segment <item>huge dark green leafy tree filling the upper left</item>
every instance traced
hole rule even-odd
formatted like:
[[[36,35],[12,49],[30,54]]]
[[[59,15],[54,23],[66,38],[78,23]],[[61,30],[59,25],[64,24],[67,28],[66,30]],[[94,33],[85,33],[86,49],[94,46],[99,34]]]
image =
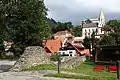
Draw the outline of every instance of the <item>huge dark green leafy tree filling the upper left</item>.
[[[51,37],[43,0],[2,0],[0,7],[2,39],[12,40],[24,50],[29,45],[42,46],[42,41]]]

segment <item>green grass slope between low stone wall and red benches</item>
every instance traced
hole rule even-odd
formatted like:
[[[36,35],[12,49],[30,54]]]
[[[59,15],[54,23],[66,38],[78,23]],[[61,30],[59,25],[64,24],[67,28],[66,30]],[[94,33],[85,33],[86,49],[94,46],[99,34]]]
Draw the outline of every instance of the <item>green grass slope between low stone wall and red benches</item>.
[[[74,73],[83,73],[91,76],[98,76],[98,77],[116,77],[116,73],[108,72],[107,68],[103,72],[94,71],[93,68],[95,67],[95,64],[93,62],[84,62],[80,66],[74,68],[74,69],[63,69],[64,71],[70,71]]]

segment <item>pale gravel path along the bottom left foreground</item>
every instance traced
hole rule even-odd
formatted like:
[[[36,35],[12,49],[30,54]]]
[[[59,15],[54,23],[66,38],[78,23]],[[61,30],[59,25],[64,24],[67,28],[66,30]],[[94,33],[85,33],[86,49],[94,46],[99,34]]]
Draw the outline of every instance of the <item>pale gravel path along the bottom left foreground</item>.
[[[51,71],[52,72],[52,71]],[[0,73],[0,80],[75,80],[55,77],[43,77],[47,71],[35,72],[4,72]],[[54,72],[52,72],[54,73]]]

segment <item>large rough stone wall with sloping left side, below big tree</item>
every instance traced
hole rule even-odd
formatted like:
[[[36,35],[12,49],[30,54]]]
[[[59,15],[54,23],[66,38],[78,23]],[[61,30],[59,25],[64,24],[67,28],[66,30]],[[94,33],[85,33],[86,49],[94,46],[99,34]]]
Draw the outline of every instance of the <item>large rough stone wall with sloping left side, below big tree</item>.
[[[16,61],[10,71],[21,71],[31,66],[50,63],[50,58],[46,56],[42,47],[29,46],[25,49],[23,55],[18,59],[18,61]]]

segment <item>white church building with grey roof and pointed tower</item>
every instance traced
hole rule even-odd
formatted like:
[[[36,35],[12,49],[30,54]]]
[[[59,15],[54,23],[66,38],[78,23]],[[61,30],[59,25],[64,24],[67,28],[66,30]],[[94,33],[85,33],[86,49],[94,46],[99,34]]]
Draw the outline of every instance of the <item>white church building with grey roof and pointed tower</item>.
[[[82,36],[84,38],[85,36],[91,37],[93,32],[95,32],[96,35],[104,34],[104,31],[102,31],[102,27],[105,26],[105,17],[102,9],[100,10],[98,18],[92,18],[89,20],[89,23],[86,23],[86,20],[84,20],[82,24]],[[100,36],[97,36],[97,38],[100,38]]]

